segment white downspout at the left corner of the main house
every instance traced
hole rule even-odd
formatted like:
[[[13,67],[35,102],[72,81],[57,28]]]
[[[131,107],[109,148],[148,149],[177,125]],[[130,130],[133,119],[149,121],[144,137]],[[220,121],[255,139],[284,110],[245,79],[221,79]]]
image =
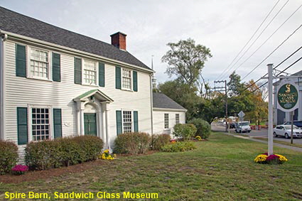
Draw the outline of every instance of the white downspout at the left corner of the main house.
[[[7,34],[1,33],[1,39],[0,39],[0,139],[1,140],[4,140],[4,41],[6,39],[7,39]]]

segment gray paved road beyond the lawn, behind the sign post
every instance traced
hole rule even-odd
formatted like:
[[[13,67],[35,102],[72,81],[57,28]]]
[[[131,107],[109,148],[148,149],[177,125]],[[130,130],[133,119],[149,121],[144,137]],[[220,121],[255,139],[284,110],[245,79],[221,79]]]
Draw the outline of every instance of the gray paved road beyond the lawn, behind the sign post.
[[[220,123],[212,123],[212,130],[213,131],[225,131],[225,124],[220,124]],[[231,134],[236,134],[234,129],[230,129]],[[250,136],[250,137],[261,137],[261,138],[267,138],[268,136],[268,131],[267,129],[261,129],[261,130],[252,130],[250,133],[244,133],[244,135]],[[240,135],[240,134],[237,134]],[[274,140],[277,141],[287,141],[291,142],[291,139],[286,139],[284,137],[277,137],[274,138]],[[293,143],[302,143],[302,138],[293,138]]]

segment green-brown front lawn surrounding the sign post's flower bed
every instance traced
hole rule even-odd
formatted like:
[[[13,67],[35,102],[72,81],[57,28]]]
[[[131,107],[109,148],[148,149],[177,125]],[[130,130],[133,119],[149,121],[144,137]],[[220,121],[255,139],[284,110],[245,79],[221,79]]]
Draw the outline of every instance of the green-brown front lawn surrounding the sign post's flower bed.
[[[158,199],[154,200],[165,201],[302,199],[300,152],[274,148],[276,153],[286,156],[288,162],[261,165],[254,163],[253,159],[266,152],[263,143],[212,133],[209,141],[196,142],[196,146],[198,149],[195,151],[185,153],[153,153],[120,157],[103,163],[96,161],[95,166],[82,172],[45,180],[0,183],[0,200],[7,200],[4,198],[6,191],[48,192],[52,196],[50,200],[68,200],[55,199],[53,192],[56,191],[121,195],[122,192],[153,192],[158,193]]]

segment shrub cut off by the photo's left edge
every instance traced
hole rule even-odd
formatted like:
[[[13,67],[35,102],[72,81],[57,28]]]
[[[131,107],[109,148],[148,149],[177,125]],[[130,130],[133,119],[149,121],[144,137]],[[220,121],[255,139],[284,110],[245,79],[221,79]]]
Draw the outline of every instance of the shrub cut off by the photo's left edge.
[[[0,175],[9,173],[18,160],[18,147],[10,141],[0,141]]]

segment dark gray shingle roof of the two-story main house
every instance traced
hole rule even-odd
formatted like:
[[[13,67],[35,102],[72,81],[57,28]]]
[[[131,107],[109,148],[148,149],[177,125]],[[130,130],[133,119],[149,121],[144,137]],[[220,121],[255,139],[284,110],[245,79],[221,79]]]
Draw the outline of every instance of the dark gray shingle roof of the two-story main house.
[[[82,50],[87,53],[100,55],[105,58],[119,60],[124,63],[144,67],[150,70],[148,66],[135,58],[130,53],[119,50],[109,43],[83,36],[57,26],[50,25],[35,18],[24,16],[0,6],[0,30],[17,33],[22,36],[28,36],[43,40],[57,45],[63,45],[68,48]]]

